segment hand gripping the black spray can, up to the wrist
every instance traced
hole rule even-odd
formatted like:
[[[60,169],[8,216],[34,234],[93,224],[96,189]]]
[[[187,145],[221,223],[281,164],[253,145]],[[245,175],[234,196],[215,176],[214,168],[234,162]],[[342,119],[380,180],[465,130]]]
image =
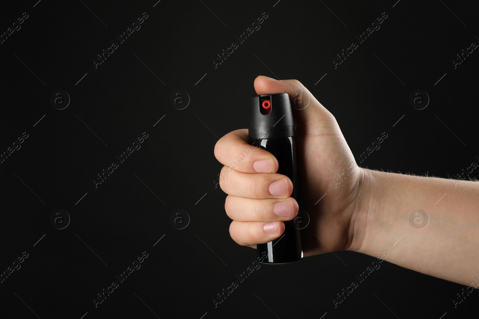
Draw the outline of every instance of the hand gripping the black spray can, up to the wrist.
[[[359,249],[364,233],[354,228],[355,211],[362,206],[359,193],[367,188],[367,174],[356,165],[336,119],[297,80],[259,76],[254,88],[257,94],[289,94],[296,122],[299,206],[289,197],[291,180],[276,174],[276,158],[251,146],[247,129],[230,132],[216,143],[215,156],[225,165],[220,187],[228,194],[225,210],[233,220],[231,238],[253,248],[271,242],[283,234],[284,221],[292,220],[301,208],[310,218],[302,230],[304,256]]]

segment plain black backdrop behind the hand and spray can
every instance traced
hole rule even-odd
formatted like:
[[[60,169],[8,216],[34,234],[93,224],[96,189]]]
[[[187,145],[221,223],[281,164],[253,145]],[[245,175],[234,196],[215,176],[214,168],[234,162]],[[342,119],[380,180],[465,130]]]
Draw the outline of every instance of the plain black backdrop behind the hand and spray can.
[[[396,1],[2,4],[1,33],[23,12],[28,18],[0,44],[1,154],[23,132],[28,138],[0,166],[0,272],[29,256],[0,284],[0,316],[439,319],[476,311],[477,292],[455,308],[465,286],[387,261],[335,308],[332,299],[377,257],[347,251],[262,265],[213,302],[256,258],[229,236],[213,154],[219,137],[247,127],[256,76],[300,80],[356,156],[387,132],[362,167],[453,177],[479,161],[479,53],[452,62],[479,43],[477,5]],[[143,12],[141,28],[120,44],[116,36]],[[263,12],[261,29],[215,68]],[[335,68],[383,12],[380,29]],[[112,42],[119,47],[95,68]],[[50,104],[57,89],[71,99],[64,110]],[[191,99],[183,110],[170,103],[177,89]],[[409,103],[417,89],[430,98],[423,110]],[[141,148],[95,188],[143,132]],[[67,228],[50,223],[55,209],[68,212]],[[186,228],[170,223],[175,209],[188,212]],[[143,252],[141,268],[95,308],[93,298]]]

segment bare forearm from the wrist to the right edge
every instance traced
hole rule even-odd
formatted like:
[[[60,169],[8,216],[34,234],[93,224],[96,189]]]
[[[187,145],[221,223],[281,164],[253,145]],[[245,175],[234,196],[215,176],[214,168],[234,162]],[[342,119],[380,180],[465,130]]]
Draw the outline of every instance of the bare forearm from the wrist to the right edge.
[[[355,232],[364,230],[358,252],[386,252],[388,262],[402,267],[467,286],[479,283],[479,182],[363,171],[365,200],[355,214]]]

